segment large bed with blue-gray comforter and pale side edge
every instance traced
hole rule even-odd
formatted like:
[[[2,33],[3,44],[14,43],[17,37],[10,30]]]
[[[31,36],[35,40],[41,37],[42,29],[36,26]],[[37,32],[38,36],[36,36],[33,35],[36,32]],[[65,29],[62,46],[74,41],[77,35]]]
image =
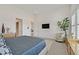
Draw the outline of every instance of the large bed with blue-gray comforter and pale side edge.
[[[2,41],[5,41],[8,46],[9,55],[46,55],[52,45],[52,41],[49,39],[30,36],[4,38]]]

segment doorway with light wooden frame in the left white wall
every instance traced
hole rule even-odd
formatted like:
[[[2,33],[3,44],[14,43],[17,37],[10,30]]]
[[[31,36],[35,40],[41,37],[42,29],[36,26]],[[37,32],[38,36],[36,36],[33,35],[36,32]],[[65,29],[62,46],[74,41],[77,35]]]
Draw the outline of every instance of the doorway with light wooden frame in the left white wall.
[[[16,18],[16,36],[22,35],[22,19]]]

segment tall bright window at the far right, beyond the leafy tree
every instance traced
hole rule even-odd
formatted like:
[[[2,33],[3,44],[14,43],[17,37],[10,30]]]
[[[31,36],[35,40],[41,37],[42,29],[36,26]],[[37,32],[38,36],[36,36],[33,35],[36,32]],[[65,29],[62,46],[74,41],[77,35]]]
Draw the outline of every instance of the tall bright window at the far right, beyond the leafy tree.
[[[79,39],[79,9],[71,17],[71,33],[76,39]]]

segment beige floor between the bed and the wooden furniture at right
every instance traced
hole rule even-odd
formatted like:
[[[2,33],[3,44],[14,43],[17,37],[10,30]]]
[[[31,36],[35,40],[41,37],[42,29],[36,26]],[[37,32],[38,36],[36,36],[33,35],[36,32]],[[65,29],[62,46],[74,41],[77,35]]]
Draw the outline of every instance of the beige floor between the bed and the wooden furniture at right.
[[[52,40],[53,44],[48,51],[47,55],[68,55],[66,45],[64,43],[58,43]]]

